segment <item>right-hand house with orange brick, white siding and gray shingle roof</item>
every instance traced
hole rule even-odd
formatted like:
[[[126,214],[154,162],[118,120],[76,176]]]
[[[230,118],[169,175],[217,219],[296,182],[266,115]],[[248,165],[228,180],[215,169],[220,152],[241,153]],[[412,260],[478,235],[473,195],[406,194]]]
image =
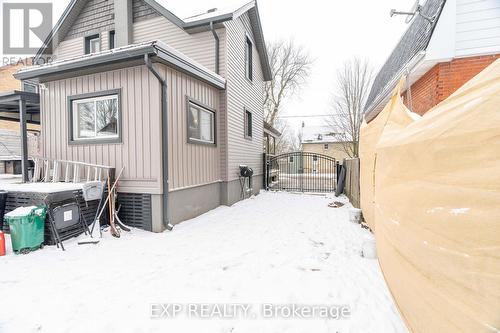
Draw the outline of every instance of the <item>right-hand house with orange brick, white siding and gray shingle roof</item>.
[[[377,74],[367,121],[384,108],[402,76],[405,105],[423,115],[500,57],[498,0],[427,0],[422,14]]]

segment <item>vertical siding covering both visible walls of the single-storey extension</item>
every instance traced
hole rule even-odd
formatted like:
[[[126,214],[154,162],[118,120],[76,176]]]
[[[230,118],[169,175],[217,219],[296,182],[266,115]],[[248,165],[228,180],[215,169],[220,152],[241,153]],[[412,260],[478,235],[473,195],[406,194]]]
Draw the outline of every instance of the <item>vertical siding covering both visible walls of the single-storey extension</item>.
[[[220,180],[219,147],[187,143],[186,95],[217,109],[219,92],[157,64],[169,85],[170,189]],[[161,194],[160,85],[145,66],[46,82],[41,91],[42,154],[53,159],[125,166],[120,191]],[[121,89],[122,143],[70,145],[67,97]]]

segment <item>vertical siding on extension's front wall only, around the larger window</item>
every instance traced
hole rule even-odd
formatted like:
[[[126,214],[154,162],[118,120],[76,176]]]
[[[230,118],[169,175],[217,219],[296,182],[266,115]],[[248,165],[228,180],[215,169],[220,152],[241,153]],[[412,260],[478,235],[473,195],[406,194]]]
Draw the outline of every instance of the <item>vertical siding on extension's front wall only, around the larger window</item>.
[[[160,87],[144,66],[46,82],[42,98],[43,155],[125,166],[120,191],[161,193]],[[67,97],[121,89],[122,143],[70,145]]]

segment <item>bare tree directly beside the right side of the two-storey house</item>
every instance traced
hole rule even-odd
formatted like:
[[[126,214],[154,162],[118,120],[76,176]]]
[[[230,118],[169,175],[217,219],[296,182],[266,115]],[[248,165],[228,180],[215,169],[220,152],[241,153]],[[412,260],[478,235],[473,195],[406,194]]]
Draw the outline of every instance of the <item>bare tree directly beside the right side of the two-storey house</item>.
[[[292,40],[270,43],[267,52],[272,80],[265,85],[264,110],[266,122],[274,126],[283,100],[305,83],[312,60],[304,48]]]

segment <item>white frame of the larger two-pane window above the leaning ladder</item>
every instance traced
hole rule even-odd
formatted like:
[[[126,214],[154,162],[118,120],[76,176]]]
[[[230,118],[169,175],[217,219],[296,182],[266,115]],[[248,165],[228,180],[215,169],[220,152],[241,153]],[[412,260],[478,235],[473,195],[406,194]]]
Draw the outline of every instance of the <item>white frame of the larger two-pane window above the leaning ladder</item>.
[[[97,136],[97,102],[103,100],[114,99],[116,100],[116,134],[112,135],[100,135]],[[78,104],[94,102],[94,136],[91,138],[82,138],[78,136]],[[104,96],[95,96],[81,99],[74,99],[71,101],[71,121],[72,121],[72,141],[74,142],[84,142],[84,141],[107,141],[109,139],[119,139],[120,138],[120,99],[118,94],[109,94]]]

